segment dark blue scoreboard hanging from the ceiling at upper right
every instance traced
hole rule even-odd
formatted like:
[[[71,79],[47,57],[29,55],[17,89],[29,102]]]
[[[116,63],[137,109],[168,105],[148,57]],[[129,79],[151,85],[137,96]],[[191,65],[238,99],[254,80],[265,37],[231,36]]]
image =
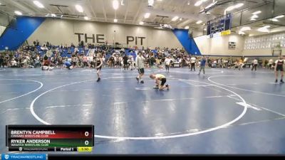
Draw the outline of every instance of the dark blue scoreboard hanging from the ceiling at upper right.
[[[232,28],[232,14],[227,14],[207,22],[207,35],[213,38],[214,34],[221,33],[221,36],[230,34]]]

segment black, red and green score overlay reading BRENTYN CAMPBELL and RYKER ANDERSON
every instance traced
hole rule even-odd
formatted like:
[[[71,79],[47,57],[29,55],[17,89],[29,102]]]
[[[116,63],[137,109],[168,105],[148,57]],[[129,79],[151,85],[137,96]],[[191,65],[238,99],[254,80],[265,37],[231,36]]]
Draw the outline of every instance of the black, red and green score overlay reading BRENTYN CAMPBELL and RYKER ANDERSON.
[[[94,146],[93,125],[7,125],[9,151],[90,152]]]

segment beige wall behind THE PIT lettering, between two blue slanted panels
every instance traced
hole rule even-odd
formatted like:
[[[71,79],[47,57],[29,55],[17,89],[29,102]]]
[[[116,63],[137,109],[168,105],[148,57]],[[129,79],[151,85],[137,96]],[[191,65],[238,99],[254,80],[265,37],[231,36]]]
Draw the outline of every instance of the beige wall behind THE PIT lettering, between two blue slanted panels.
[[[114,34],[114,31],[116,33]],[[131,26],[115,23],[99,23],[88,21],[71,21],[61,19],[48,18],[41,24],[41,26],[28,38],[28,43],[32,44],[33,41],[45,42],[48,41],[53,45],[71,43],[78,44],[78,36],[74,33],[87,33],[88,37],[92,37],[92,34],[104,34],[105,41],[113,43],[115,42],[126,44],[127,36],[145,37],[144,47],[168,47],[168,48],[182,48],[182,45],[177,40],[176,36],[170,30],[159,30],[147,26]],[[85,37],[81,37],[85,40]],[[92,43],[92,40],[88,40],[88,43]],[[135,42],[130,42],[128,46],[135,46]],[[138,41],[138,47],[140,41]]]

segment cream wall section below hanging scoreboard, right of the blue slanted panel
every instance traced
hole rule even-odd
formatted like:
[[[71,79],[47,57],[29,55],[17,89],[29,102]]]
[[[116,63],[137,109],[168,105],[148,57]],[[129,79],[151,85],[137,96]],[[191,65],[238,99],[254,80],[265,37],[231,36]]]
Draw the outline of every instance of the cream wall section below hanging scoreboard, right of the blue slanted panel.
[[[228,36],[219,36],[208,38],[208,36],[199,36],[194,38],[202,55],[233,55],[242,56],[244,50],[244,37],[232,33]],[[236,49],[229,49],[229,42],[236,42]]]

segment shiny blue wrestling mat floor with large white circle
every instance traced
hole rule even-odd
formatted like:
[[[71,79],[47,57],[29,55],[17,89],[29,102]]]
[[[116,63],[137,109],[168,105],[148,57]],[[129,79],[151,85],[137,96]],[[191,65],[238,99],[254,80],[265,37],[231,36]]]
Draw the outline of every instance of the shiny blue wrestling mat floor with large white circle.
[[[285,154],[285,85],[273,70],[0,70],[6,124],[93,124],[93,154]],[[150,73],[167,76],[159,91]]]

